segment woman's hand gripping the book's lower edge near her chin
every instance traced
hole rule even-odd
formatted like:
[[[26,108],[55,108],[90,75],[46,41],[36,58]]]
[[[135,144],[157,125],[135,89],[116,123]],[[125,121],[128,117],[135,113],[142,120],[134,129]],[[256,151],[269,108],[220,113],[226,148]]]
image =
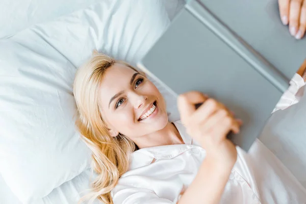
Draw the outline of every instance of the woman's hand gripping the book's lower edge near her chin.
[[[182,94],[177,103],[187,133],[206,150],[207,158],[222,160],[222,165],[234,165],[237,150],[226,135],[230,131],[238,133],[241,121],[235,119],[224,105],[200,92]],[[195,109],[198,103],[203,104]]]

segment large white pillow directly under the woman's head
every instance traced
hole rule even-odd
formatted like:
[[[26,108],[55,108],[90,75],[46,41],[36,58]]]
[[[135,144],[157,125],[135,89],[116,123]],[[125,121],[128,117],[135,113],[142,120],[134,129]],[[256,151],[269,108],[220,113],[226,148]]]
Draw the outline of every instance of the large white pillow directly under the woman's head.
[[[103,1],[0,41],[0,173],[23,203],[88,167],[73,120],[76,67],[94,48],[139,61],[169,24],[162,1]]]

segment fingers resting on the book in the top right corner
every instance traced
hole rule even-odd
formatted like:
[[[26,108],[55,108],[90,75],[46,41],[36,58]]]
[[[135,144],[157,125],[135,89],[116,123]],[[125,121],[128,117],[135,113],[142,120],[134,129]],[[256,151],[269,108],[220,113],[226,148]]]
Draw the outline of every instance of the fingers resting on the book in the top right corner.
[[[290,34],[301,39],[306,31],[306,0],[278,0],[278,6],[283,24],[289,24]]]

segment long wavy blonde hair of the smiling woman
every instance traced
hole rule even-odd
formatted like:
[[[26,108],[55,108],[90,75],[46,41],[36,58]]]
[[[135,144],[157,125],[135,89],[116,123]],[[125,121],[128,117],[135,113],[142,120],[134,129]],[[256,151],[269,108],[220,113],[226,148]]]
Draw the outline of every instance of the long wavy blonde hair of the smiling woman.
[[[126,62],[94,52],[93,57],[75,74],[73,94],[78,107],[75,124],[92,151],[91,166],[98,174],[92,183],[91,192],[80,202],[90,198],[90,203],[94,199],[106,204],[113,203],[110,192],[129,168],[130,156],[136,148],[132,140],[121,134],[112,137],[101,116],[99,85],[106,70],[116,63],[137,71]]]

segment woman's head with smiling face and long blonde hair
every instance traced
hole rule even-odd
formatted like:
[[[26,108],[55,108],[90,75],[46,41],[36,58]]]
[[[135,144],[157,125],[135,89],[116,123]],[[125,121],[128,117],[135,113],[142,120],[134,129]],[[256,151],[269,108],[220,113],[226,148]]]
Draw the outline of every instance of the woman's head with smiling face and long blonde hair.
[[[110,203],[109,193],[127,171],[131,153],[146,145],[141,136],[168,124],[164,98],[134,67],[97,53],[78,70],[73,93],[76,124],[99,174],[89,196]]]

